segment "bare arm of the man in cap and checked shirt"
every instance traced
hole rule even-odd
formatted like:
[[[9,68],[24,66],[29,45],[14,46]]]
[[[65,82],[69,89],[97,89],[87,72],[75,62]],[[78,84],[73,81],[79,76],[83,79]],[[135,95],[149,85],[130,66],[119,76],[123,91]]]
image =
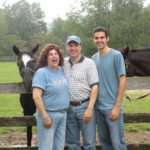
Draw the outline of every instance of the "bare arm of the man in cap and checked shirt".
[[[85,123],[90,122],[92,119],[92,114],[93,114],[94,105],[95,105],[95,102],[97,99],[97,94],[98,94],[98,84],[95,84],[92,86],[92,89],[91,89],[89,105],[88,105],[86,111],[84,112],[84,122]]]

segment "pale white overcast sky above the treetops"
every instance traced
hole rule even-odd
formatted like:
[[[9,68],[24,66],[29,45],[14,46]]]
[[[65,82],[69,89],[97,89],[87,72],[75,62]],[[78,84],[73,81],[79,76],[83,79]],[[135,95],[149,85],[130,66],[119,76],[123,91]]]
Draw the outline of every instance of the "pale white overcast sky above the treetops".
[[[0,0],[0,7],[5,2],[12,4],[19,0]],[[80,0],[27,0],[30,3],[39,2],[41,9],[45,12],[45,21],[51,22],[56,17],[65,17],[65,14],[73,5],[77,5]],[[145,5],[150,4],[150,0],[146,0]]]

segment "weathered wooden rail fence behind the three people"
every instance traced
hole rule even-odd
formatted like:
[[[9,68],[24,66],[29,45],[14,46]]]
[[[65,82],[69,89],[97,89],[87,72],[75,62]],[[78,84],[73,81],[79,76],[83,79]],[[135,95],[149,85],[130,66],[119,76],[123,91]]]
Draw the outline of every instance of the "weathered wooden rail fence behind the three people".
[[[150,77],[128,77],[126,90],[150,89]],[[23,83],[1,83],[0,94],[26,93]],[[125,123],[150,123],[149,113],[128,113],[124,114]],[[36,126],[33,116],[26,117],[0,117],[0,127]],[[67,147],[65,147],[67,149]],[[100,145],[96,145],[101,150]],[[149,144],[129,144],[128,150],[150,150]],[[37,150],[37,147],[0,147],[0,150]]]

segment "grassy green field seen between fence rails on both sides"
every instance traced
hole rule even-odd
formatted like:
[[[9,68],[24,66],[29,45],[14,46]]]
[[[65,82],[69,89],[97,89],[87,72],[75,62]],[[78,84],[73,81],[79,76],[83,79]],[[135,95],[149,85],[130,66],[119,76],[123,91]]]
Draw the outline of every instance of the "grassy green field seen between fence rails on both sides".
[[[0,83],[12,83],[22,81],[18,72],[16,62],[0,62]],[[128,95],[131,98],[136,98],[145,94],[146,92],[136,91],[129,92]],[[4,116],[22,116],[22,108],[19,103],[18,94],[0,94],[0,117]],[[124,112],[125,113],[141,113],[141,112],[150,112],[150,96],[130,102],[124,98]],[[25,127],[11,127],[11,128],[0,128],[0,133],[6,133],[10,130],[21,130],[24,131]],[[127,131],[150,131],[150,124],[146,123],[132,123],[125,124],[125,130]]]

